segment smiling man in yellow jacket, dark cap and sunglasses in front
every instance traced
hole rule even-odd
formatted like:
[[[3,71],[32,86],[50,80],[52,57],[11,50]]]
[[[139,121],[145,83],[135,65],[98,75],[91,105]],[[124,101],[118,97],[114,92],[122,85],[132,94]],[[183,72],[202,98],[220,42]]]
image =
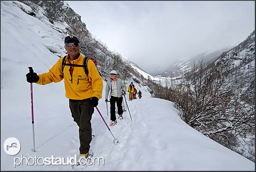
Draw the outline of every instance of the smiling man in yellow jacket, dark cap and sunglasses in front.
[[[98,105],[102,97],[102,78],[93,61],[88,60],[88,76],[83,67],[84,56],[80,54],[79,40],[76,37],[65,38],[66,64],[62,72],[62,60],[60,58],[47,73],[37,75],[35,72],[27,73],[27,82],[40,85],[60,82],[64,79],[66,97],[69,99],[69,107],[74,121],[79,126],[80,155],[88,157],[91,143],[91,117],[94,107]],[[74,65],[75,64],[75,65]],[[66,67],[65,67],[66,66]]]

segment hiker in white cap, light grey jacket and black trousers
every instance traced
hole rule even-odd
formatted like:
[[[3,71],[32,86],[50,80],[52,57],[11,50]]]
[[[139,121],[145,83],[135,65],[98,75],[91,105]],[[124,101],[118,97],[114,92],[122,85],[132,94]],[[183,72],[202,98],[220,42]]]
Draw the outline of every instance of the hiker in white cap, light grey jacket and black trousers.
[[[110,126],[116,125],[116,104],[119,114],[119,119],[123,119],[123,109],[122,109],[122,94],[125,93],[125,85],[122,80],[117,78],[117,72],[112,70],[110,72],[110,79],[107,81],[105,102],[108,102],[108,94],[110,94],[110,120],[112,121]]]

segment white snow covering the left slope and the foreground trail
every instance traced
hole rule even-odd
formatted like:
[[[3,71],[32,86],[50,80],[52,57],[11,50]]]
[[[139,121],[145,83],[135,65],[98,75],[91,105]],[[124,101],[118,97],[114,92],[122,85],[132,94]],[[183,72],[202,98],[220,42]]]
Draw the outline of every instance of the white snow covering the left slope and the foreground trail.
[[[79,153],[79,137],[63,81],[44,86],[33,84],[36,152],[31,151],[27,67],[32,66],[38,74],[47,72],[58,56],[46,45],[64,53],[62,35],[12,2],[1,1],[1,19],[1,170],[73,170],[65,165],[23,164],[14,168],[14,158],[21,155],[74,157]],[[78,170],[254,170],[253,162],[184,123],[171,102],[151,98],[142,90],[142,99],[127,103],[133,122],[126,111],[125,119],[111,127],[120,140],[118,145],[113,144],[112,135],[94,110],[91,151],[94,157],[104,157],[105,165],[78,166]],[[104,99],[99,100],[98,108],[109,123]],[[3,151],[9,137],[20,140],[21,151],[17,155]]]

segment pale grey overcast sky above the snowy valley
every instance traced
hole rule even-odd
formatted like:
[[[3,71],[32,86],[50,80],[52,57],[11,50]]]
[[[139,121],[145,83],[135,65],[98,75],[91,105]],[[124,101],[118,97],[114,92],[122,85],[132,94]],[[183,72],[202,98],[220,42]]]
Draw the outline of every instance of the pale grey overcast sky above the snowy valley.
[[[148,73],[242,41],[255,28],[254,1],[66,2],[93,36]]]

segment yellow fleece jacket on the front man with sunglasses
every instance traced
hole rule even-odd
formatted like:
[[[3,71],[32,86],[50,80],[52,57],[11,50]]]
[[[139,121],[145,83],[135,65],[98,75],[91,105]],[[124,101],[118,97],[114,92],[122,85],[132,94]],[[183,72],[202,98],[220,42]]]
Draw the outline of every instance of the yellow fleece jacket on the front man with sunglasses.
[[[102,78],[93,61],[88,60],[88,77],[83,67],[73,67],[72,78],[69,73],[70,66],[65,66],[62,72],[61,57],[47,73],[39,76],[37,84],[46,85],[52,82],[60,82],[64,78],[66,97],[74,100],[83,100],[90,97],[101,99],[103,83]],[[69,59],[67,55],[66,59]],[[83,65],[84,56],[80,54],[78,59],[71,61],[72,64]],[[66,63],[69,63],[66,61]],[[72,80],[71,80],[72,79]]]

